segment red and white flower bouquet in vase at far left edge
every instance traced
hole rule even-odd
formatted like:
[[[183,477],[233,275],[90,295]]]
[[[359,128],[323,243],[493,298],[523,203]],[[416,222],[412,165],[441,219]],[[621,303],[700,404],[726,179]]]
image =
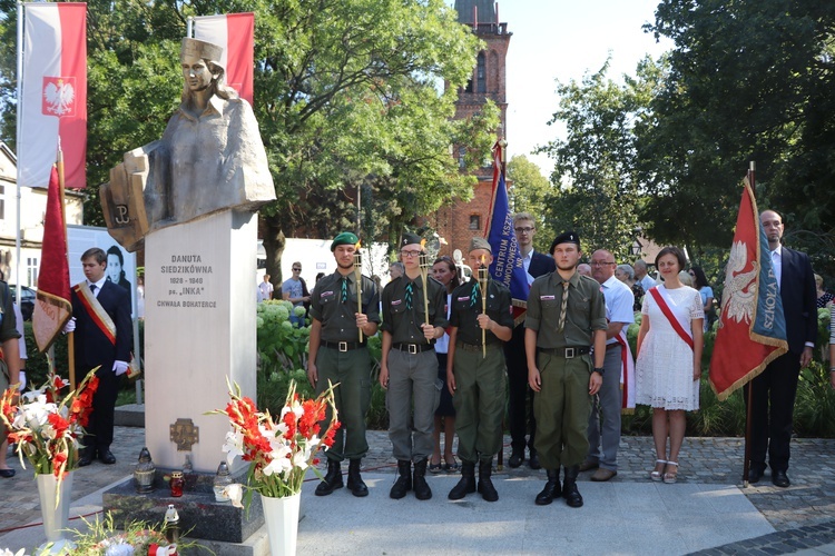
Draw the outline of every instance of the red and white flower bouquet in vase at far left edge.
[[[14,387],[3,393],[0,418],[9,428],[9,441],[18,445],[23,468],[26,456],[36,474],[55,474],[60,483],[67,471],[78,467],[80,439],[90,417],[92,395],[99,386],[96,370],[65,396],[61,390],[69,383],[55,370],[50,370],[39,389],[23,393],[19,405],[13,401],[18,394]]]

